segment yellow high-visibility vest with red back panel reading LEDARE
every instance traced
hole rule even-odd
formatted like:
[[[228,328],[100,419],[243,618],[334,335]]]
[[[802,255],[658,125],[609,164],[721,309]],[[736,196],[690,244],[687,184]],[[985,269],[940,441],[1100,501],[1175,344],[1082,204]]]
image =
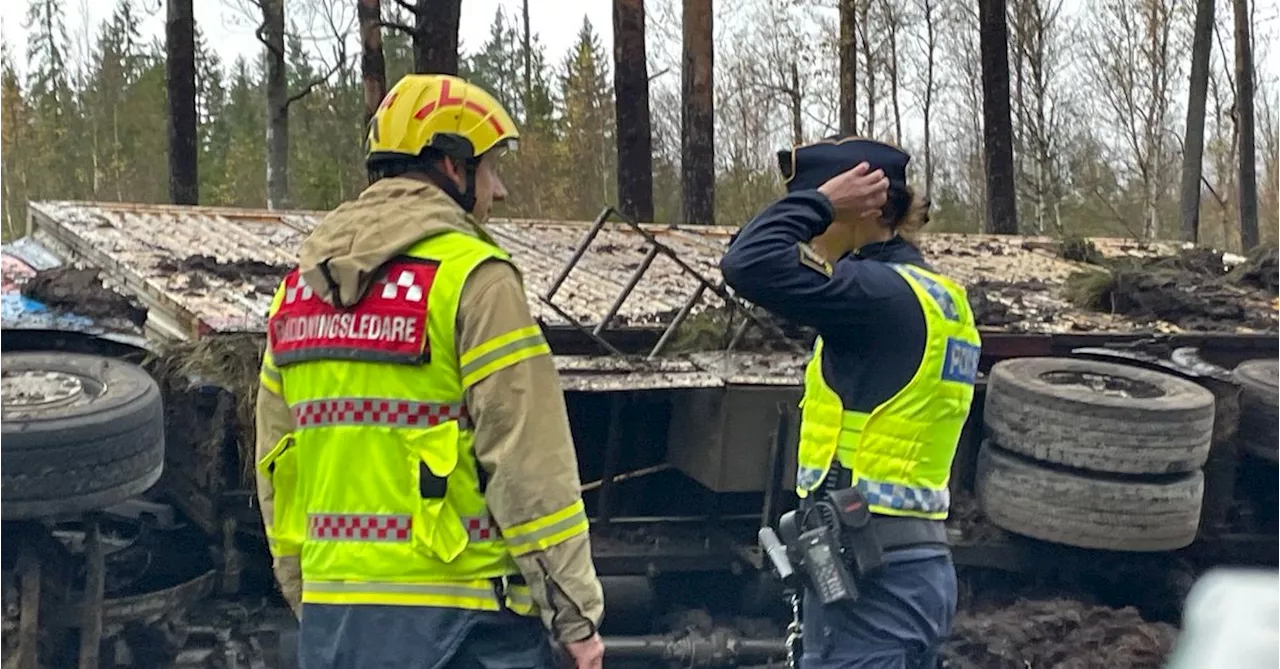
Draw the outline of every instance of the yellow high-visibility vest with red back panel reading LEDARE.
[[[454,339],[462,287],[490,258],[509,260],[489,239],[445,233],[387,264],[351,310],[317,299],[297,271],[276,292],[264,374],[278,370],[294,431],[259,468],[275,496],[271,550],[301,555],[303,602],[502,601],[535,614],[472,448],[465,376],[488,358],[460,363]],[[541,336],[530,330],[512,336]]]

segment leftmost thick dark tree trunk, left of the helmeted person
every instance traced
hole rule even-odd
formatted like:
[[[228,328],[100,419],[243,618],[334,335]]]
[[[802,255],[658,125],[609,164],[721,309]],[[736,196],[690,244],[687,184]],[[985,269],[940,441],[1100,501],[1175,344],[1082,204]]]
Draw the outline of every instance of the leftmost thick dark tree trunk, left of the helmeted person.
[[[200,203],[196,151],[196,14],[191,4],[192,0],[169,0],[165,22],[169,201],[174,205]]]

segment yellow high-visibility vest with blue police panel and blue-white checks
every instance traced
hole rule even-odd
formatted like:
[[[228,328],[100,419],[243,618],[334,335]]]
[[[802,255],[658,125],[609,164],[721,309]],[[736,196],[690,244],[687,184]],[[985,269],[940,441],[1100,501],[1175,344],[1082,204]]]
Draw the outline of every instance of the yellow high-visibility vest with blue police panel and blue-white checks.
[[[965,289],[910,265],[891,265],[924,310],[927,336],[911,380],[870,413],[845,411],[822,376],[822,338],[805,368],[796,494],[822,485],[832,458],[873,513],[945,519],[947,484],[969,417],[982,339]]]

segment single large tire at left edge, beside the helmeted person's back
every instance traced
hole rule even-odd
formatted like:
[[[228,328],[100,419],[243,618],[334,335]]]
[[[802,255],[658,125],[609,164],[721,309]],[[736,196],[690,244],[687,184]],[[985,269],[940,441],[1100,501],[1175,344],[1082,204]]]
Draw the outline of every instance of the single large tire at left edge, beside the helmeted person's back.
[[[0,356],[0,521],[102,509],[155,485],[163,468],[160,389],[141,367]]]

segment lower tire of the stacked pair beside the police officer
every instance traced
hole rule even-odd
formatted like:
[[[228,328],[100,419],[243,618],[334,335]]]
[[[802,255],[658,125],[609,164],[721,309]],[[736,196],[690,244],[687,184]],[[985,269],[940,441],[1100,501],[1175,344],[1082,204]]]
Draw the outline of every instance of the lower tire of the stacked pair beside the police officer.
[[[1204,475],[1165,482],[1092,478],[984,441],[975,487],[987,518],[1010,532],[1085,549],[1161,551],[1196,540]]]

